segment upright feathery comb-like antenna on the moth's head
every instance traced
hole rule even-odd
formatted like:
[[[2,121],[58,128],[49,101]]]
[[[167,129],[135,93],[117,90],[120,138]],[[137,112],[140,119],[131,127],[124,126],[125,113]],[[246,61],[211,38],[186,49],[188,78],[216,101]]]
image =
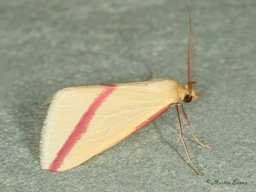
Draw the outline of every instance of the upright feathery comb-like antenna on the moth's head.
[[[188,8],[188,4],[187,8]],[[191,15],[188,9],[189,18],[190,18],[190,30],[189,30],[189,42],[188,42],[188,82],[193,81],[196,74],[196,64],[197,64],[197,50],[198,42],[196,37],[196,32],[191,26]]]

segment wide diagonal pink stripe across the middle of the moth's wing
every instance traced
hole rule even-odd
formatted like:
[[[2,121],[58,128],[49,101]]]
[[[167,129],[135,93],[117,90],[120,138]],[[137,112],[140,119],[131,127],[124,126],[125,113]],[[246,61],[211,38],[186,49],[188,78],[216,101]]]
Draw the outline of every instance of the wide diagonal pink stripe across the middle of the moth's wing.
[[[71,132],[70,136],[57,153],[52,164],[49,166],[49,171],[57,171],[58,168],[60,168],[64,158],[68,155],[68,153],[74,147],[76,142],[80,140],[82,135],[88,129],[88,125],[92,120],[93,116],[95,115],[96,110],[106,100],[106,98],[117,88],[117,86],[113,84],[105,84],[104,86],[106,86],[105,90],[102,93],[100,93],[97,98],[94,99],[92,104],[90,104],[88,110],[80,118],[80,121],[75,126],[74,130]]]

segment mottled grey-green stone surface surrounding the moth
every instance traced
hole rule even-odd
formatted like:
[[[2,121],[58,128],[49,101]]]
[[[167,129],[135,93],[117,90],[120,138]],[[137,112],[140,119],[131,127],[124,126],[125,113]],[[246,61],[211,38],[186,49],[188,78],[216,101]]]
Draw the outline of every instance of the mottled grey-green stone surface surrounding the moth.
[[[186,83],[189,18],[180,0],[0,2],[1,191],[254,191],[256,4],[188,1],[198,34],[197,92],[118,145],[65,172],[41,170],[50,94],[68,86],[170,77]],[[231,184],[208,184],[215,179]],[[246,185],[233,185],[236,179]]]

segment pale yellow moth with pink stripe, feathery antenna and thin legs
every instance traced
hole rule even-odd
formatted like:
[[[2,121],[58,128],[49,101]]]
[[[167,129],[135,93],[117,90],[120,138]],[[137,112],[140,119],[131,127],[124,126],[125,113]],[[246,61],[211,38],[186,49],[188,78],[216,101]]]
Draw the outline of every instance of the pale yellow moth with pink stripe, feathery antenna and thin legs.
[[[189,10],[188,10],[189,11]],[[189,12],[190,15],[190,12]],[[170,79],[145,82],[104,84],[64,88],[46,99],[50,104],[40,140],[40,164],[43,169],[64,171],[114,146],[175,106],[186,155],[194,166],[182,137],[178,106],[188,118],[180,101],[195,100],[197,42],[191,27],[188,43],[188,82],[186,86]],[[192,135],[194,135],[188,122]]]

